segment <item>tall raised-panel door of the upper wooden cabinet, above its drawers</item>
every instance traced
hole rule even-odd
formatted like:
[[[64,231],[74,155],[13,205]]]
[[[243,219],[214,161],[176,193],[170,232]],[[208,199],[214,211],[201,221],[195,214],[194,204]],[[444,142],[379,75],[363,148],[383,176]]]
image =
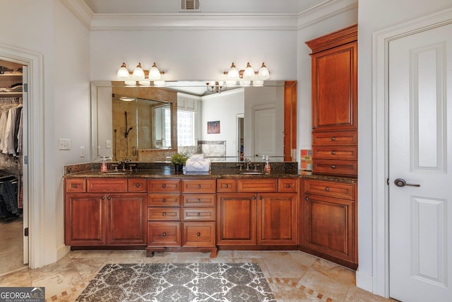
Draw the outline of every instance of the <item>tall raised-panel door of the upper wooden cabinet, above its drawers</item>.
[[[312,54],[312,127],[357,127],[357,42]]]

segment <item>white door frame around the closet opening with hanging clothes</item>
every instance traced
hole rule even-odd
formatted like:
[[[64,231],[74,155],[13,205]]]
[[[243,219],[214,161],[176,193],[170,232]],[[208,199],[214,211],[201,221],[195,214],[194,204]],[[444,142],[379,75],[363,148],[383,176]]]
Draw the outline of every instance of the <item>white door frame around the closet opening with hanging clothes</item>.
[[[24,156],[28,155],[28,165],[23,165],[23,196],[24,202],[28,199],[28,267],[34,269],[44,265],[43,55],[0,43],[0,59],[28,66],[28,137],[23,142],[24,151],[28,149],[24,152]]]

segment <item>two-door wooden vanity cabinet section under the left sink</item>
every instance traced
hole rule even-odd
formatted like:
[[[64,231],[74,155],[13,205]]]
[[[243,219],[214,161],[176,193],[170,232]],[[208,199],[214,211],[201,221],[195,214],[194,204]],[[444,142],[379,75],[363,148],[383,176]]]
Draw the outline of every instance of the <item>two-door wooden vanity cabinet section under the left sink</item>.
[[[66,245],[146,245],[143,185],[143,180],[127,178],[66,179]]]

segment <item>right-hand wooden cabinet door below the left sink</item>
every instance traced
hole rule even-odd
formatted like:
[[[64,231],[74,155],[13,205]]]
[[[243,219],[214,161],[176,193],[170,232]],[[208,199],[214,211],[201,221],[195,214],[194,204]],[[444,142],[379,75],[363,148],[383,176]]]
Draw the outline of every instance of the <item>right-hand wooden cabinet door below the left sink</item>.
[[[108,245],[145,245],[147,242],[147,195],[107,195]]]

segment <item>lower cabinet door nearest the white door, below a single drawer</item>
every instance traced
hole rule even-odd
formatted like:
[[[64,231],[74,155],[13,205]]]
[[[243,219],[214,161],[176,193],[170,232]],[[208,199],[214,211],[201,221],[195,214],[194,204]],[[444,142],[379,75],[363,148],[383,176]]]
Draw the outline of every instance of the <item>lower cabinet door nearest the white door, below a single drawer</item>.
[[[353,200],[305,194],[304,246],[348,262],[357,262],[355,215]]]

